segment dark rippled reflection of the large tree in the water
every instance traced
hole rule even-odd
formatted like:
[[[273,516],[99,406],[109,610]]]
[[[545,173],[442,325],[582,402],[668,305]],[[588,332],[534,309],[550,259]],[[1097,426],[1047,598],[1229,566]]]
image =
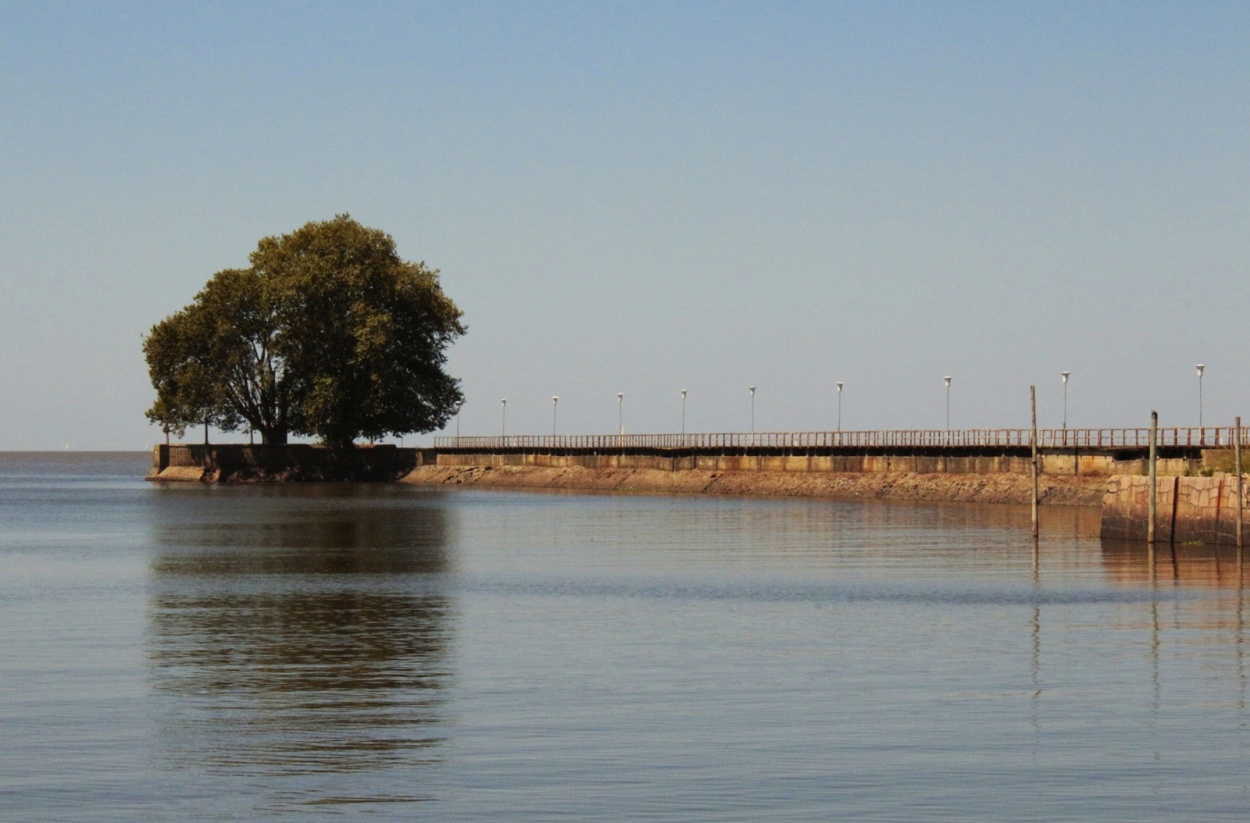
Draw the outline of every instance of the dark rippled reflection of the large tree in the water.
[[[452,608],[442,507],[362,485],[162,498],[148,657],[164,755],[285,778],[278,795],[296,798],[300,775],[376,782],[438,760]],[[369,797],[351,799],[420,799],[386,785],[354,784]]]

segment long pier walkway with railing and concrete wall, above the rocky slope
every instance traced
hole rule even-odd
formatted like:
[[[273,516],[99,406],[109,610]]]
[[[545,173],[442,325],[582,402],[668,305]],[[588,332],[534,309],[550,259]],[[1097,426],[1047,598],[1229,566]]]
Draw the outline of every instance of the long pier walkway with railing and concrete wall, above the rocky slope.
[[[1242,443],[1245,435],[1242,428]],[[1028,474],[1032,437],[1031,429],[439,437],[434,453],[449,467]],[[1222,469],[1236,437],[1236,427],[1159,429],[1159,472]],[[1045,474],[1142,474],[1150,429],[1038,429],[1036,448]]]

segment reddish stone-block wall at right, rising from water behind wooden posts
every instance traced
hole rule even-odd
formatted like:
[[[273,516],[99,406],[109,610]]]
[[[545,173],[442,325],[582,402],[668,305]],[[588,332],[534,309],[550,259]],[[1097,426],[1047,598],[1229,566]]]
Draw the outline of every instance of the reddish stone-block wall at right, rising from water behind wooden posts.
[[[1236,543],[1236,475],[1161,478],[1155,489],[1155,504],[1158,542]],[[1242,509],[1250,509],[1250,499],[1242,502]],[[1112,478],[1102,498],[1102,537],[1145,540],[1149,512],[1149,478]]]

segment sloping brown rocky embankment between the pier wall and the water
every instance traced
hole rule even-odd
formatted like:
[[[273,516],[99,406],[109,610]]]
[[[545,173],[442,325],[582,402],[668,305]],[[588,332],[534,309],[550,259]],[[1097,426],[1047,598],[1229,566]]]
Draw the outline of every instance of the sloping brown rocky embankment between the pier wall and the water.
[[[834,474],[800,472],[661,472],[540,467],[419,467],[401,483],[510,489],[582,489],[640,494],[724,494],[1028,504],[1019,474]],[[1100,505],[1108,478],[1044,475],[1044,505]]]

